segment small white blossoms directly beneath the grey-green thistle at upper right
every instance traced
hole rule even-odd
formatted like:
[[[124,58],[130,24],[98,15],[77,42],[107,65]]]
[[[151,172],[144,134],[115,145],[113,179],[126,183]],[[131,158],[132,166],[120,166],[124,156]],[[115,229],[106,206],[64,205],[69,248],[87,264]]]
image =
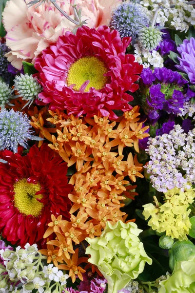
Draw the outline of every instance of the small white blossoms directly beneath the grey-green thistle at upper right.
[[[135,44],[135,58],[136,62],[142,64],[144,68],[148,67],[163,67],[163,58],[160,56],[160,53],[156,50],[147,51],[141,49],[139,44]]]

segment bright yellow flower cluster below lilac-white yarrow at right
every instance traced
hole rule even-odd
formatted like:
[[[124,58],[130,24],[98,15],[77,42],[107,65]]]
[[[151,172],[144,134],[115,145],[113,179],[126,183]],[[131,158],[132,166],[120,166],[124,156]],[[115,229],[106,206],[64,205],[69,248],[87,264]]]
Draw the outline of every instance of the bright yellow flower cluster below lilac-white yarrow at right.
[[[164,204],[158,203],[154,197],[155,206],[151,203],[143,206],[145,219],[151,216],[148,226],[159,233],[166,232],[167,236],[180,241],[187,240],[186,235],[191,228],[189,205],[194,201],[195,190],[190,188],[181,191],[179,188],[173,188],[164,195]]]

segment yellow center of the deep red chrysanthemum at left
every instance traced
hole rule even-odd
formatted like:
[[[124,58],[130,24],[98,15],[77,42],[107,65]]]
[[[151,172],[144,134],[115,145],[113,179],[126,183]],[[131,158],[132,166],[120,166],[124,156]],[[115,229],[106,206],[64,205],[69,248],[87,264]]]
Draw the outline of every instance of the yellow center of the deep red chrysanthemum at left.
[[[37,200],[42,198],[42,194],[36,195],[40,188],[39,183],[28,183],[25,178],[14,184],[14,205],[24,216],[38,217],[40,215],[44,206]]]

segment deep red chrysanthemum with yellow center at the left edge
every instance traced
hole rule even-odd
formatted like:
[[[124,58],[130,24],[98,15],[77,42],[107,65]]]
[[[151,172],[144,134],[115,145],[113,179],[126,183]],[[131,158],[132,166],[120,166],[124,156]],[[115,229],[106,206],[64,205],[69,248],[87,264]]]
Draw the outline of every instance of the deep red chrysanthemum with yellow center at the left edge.
[[[51,214],[69,218],[67,164],[43,144],[27,155],[0,151],[0,232],[12,244],[38,242]]]

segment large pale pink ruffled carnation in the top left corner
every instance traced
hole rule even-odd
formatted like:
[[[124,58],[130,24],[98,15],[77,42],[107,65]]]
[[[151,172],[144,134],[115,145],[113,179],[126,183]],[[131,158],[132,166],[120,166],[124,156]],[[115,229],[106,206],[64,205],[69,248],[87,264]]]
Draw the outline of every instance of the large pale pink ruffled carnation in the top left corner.
[[[26,0],[30,2],[31,0]],[[89,27],[98,27],[108,24],[111,10],[121,0],[57,0],[60,8],[74,18],[71,4],[81,8],[81,20],[86,20]],[[75,24],[67,20],[59,10],[49,1],[27,7],[24,0],[9,0],[6,4],[3,23],[6,35],[6,44],[11,49],[7,53],[8,61],[18,69],[22,61],[34,60],[42,50],[56,42],[65,31],[71,31]]]

